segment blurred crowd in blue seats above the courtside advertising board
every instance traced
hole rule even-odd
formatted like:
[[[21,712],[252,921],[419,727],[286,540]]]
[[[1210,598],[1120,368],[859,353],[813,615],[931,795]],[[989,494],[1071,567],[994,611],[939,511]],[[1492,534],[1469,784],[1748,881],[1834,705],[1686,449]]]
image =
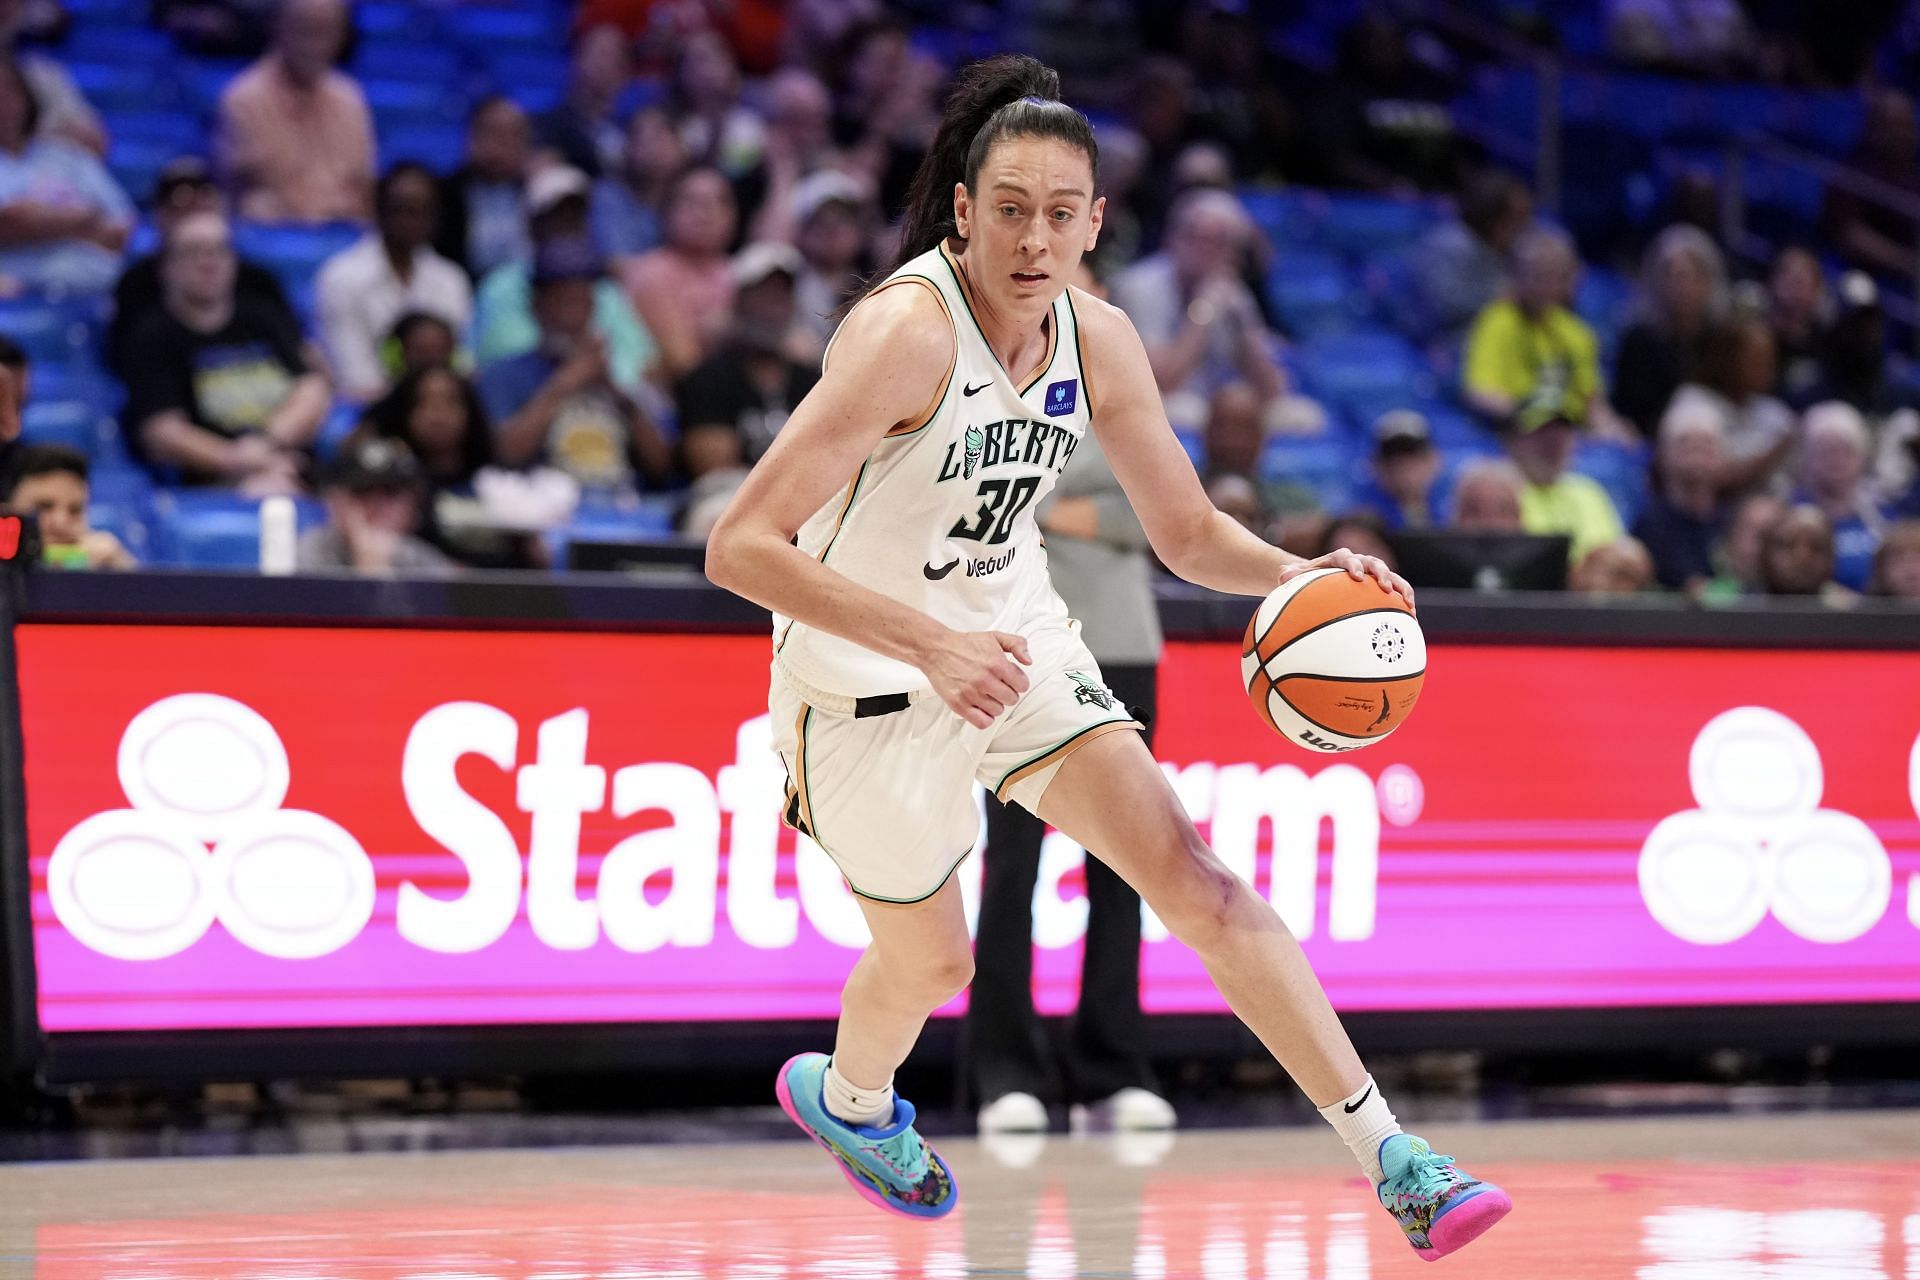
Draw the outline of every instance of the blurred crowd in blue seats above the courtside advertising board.
[[[63,566],[699,539],[952,69],[1056,65],[1079,284],[1302,555],[1920,601],[1920,17],[1889,0],[0,0],[0,489]]]

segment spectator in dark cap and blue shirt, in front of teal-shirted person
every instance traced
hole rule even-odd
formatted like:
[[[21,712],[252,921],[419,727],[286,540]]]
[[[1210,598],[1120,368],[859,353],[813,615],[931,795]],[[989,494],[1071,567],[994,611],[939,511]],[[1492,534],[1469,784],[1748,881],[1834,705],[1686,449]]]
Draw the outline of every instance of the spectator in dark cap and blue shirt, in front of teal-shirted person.
[[[620,386],[607,340],[593,326],[605,267],[589,240],[555,240],[534,257],[540,344],[480,368],[480,403],[495,422],[493,453],[507,466],[545,464],[582,489],[632,493],[664,482],[672,453],[653,418]]]

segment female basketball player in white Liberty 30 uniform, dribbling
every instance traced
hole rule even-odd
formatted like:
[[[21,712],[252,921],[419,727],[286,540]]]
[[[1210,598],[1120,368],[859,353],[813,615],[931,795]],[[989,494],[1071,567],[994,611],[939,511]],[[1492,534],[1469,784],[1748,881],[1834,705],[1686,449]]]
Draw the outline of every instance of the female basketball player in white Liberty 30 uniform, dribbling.
[[[973,973],[952,869],[981,781],[1140,890],[1434,1259],[1492,1226],[1505,1192],[1400,1132],[1300,946],[1200,839],[1100,681],[1048,585],[1033,505],[1092,428],[1188,581],[1265,595],[1338,566],[1411,591],[1350,551],[1304,562],[1208,503],[1127,317],[1068,288],[1104,201],[1092,129],[1058,86],[1018,56],[960,73],[900,267],[847,317],[708,545],[708,576],[774,612],[787,821],[833,858],[874,933],[833,1055],[791,1059],[780,1102],[870,1201],[954,1207],[893,1073]]]

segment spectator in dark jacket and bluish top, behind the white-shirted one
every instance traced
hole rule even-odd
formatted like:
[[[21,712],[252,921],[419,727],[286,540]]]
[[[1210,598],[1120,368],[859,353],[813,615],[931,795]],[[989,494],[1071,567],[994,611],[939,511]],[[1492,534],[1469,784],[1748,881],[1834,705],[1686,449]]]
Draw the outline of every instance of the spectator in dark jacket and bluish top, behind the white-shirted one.
[[[440,182],[434,249],[472,280],[534,259],[526,230],[532,138],[526,109],[505,94],[482,98],[467,117],[467,159]]]

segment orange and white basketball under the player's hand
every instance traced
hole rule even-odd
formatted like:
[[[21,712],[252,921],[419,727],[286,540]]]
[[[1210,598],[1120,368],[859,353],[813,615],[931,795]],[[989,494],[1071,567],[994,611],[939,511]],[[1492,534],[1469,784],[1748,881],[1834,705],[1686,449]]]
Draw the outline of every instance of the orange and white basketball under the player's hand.
[[[1359,750],[1407,722],[1427,677],[1427,637],[1373,578],[1319,568],[1254,610],[1240,676],[1261,723],[1308,750]]]

